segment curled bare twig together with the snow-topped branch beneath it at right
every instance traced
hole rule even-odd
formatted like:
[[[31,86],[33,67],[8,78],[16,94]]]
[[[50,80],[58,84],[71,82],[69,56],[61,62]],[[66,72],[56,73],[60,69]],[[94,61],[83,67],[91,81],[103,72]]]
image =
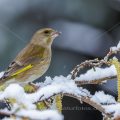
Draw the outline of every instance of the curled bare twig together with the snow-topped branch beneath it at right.
[[[71,72],[71,78],[75,79],[78,85],[83,84],[99,84],[106,80],[117,78],[117,72],[114,65],[111,65],[109,59],[112,55],[117,55],[120,52],[120,42],[117,46],[111,47],[108,54],[101,60],[86,60],[85,62],[77,65]],[[106,68],[101,68],[106,65]],[[91,67],[87,73],[77,77],[78,72],[85,67]]]

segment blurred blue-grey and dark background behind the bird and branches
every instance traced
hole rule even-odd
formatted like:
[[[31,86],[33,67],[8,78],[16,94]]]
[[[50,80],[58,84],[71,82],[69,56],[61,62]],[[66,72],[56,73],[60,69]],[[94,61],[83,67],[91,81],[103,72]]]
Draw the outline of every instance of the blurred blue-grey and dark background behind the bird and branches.
[[[66,76],[75,65],[104,57],[118,43],[120,0],[0,0],[1,71],[43,27],[62,32],[54,41],[52,63],[44,76]],[[84,87],[117,95],[114,81]],[[65,120],[102,120],[101,113],[74,99],[64,98],[63,106]]]

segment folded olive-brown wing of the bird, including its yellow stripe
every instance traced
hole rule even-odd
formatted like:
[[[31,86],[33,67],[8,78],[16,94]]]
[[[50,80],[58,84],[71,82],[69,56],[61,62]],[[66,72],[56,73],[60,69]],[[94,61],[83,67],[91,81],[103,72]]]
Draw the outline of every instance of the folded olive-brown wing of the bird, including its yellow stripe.
[[[3,78],[14,77],[33,67],[36,62],[42,61],[43,51],[38,46],[27,46],[24,48],[5,71]]]

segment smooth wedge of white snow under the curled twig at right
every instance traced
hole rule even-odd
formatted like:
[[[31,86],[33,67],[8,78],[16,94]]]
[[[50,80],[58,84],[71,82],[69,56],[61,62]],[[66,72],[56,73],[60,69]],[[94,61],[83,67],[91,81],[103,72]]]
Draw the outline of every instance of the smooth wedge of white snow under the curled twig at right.
[[[95,71],[93,69],[88,70],[85,74],[80,75],[79,77],[76,77],[76,81],[83,81],[83,80],[96,80],[100,78],[105,78],[109,76],[115,76],[117,75],[116,69],[114,65],[108,67],[108,68],[95,68]]]

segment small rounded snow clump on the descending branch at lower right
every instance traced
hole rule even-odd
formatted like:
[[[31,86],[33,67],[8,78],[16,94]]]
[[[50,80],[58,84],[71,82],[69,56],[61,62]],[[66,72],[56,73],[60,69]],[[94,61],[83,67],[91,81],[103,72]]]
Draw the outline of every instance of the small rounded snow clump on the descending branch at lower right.
[[[116,103],[115,98],[111,95],[106,95],[103,91],[96,92],[91,100],[100,104],[113,104]]]

